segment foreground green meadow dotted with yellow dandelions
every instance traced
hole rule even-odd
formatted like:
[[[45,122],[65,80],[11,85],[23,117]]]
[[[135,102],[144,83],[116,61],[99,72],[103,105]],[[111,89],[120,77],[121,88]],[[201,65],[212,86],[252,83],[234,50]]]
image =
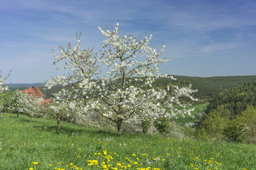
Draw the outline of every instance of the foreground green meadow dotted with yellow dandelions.
[[[72,123],[56,130],[55,120],[29,119],[11,113],[0,117],[0,169],[256,169],[255,145],[118,137]]]

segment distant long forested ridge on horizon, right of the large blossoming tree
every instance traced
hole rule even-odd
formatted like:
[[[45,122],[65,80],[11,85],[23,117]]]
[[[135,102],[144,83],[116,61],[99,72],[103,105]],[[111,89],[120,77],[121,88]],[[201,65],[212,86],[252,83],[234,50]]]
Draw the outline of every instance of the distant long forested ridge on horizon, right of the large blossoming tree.
[[[193,89],[198,89],[198,92],[194,94],[196,98],[213,98],[223,91],[228,91],[235,86],[245,84],[247,81],[256,80],[256,75],[236,77],[185,77],[174,75],[174,78],[176,78],[176,81],[171,81],[171,83],[180,82],[183,84],[185,82],[187,85],[191,83]],[[158,79],[156,86],[168,83],[168,79]]]

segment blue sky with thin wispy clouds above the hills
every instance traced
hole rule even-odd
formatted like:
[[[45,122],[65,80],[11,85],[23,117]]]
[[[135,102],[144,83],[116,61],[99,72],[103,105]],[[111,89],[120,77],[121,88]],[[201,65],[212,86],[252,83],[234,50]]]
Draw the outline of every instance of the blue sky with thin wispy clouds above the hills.
[[[7,82],[43,83],[63,74],[53,50],[102,41],[97,26],[166,45],[163,74],[192,77],[256,75],[255,0],[0,0],[0,71]]]

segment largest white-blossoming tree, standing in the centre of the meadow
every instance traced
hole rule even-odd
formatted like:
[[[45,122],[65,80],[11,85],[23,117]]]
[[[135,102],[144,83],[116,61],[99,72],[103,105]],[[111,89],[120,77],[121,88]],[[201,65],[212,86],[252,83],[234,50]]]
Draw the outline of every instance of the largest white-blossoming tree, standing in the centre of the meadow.
[[[156,51],[150,45],[152,35],[134,38],[133,35],[120,35],[119,23],[114,30],[103,30],[98,27],[106,38],[103,41],[101,57],[97,58],[93,50],[80,50],[80,35],[77,35],[77,45],[68,50],[60,47],[60,55],[55,56],[55,63],[65,60],[61,70],[70,69],[68,76],[53,77],[46,83],[50,89],[56,84],[73,84],[73,100],[83,101],[84,111],[98,113],[117,125],[118,134],[122,134],[122,125],[126,122],[140,119],[152,120],[158,117],[172,118],[176,114],[190,114],[186,104],[179,101],[181,96],[195,100],[191,86],[179,88],[173,86],[165,89],[153,87],[156,79],[165,77],[174,79],[167,74],[159,74],[159,64],[171,59],[161,58],[163,47]],[[68,62],[67,62],[68,61]],[[107,72],[101,73],[100,65],[107,67]],[[97,75],[102,77],[97,79]],[[170,91],[170,89],[173,89]],[[174,108],[181,106],[181,110]],[[166,112],[166,108],[170,112]]]

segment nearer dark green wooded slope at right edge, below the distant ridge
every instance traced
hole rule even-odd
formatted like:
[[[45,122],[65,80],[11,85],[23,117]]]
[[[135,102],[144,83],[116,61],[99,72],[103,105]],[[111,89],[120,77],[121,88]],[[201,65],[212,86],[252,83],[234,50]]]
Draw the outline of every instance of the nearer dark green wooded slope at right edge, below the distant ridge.
[[[245,111],[247,105],[256,106],[256,81],[249,81],[215,96],[210,101],[207,112],[209,113],[212,109],[227,108],[233,115],[239,115]]]

